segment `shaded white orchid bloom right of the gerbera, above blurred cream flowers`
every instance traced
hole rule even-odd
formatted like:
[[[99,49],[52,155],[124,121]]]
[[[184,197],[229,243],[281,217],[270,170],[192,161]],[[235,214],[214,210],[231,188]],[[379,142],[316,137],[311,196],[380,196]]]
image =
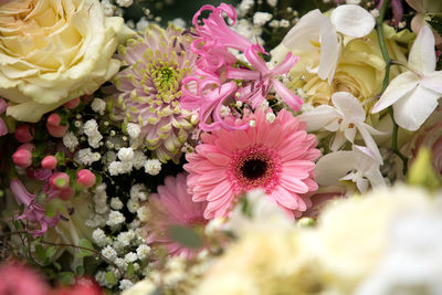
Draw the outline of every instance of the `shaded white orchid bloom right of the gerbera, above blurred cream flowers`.
[[[367,147],[354,145],[352,150],[339,150],[322,157],[315,167],[319,186],[333,186],[339,180],[351,180],[360,192],[371,187],[385,186],[380,162]]]

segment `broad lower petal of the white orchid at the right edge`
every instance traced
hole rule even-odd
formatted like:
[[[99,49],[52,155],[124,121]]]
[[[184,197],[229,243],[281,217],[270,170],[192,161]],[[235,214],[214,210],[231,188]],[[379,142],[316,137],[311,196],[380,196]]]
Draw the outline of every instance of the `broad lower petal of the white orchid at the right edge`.
[[[411,93],[393,105],[394,120],[402,128],[414,131],[430,117],[441,95],[418,85]]]

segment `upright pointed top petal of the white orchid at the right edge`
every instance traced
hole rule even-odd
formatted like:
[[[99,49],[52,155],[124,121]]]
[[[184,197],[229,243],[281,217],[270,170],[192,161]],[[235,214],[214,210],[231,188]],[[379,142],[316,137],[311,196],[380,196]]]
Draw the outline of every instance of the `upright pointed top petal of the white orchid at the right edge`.
[[[435,70],[434,35],[428,25],[423,25],[410,50],[408,63],[423,73]]]

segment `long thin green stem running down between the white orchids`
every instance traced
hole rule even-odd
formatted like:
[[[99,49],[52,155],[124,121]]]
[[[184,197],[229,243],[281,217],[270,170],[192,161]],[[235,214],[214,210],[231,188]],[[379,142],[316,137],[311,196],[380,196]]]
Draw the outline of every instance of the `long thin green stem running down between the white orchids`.
[[[387,86],[390,82],[391,59],[390,59],[390,55],[388,54],[386,39],[383,35],[383,18],[386,15],[386,11],[387,11],[389,3],[390,3],[390,0],[383,0],[383,3],[379,11],[379,17],[376,19],[376,31],[378,33],[379,46],[380,46],[380,51],[382,53],[383,61],[386,62],[386,75],[383,76],[381,93],[383,93],[387,89]],[[396,155],[398,155],[398,157],[402,160],[403,173],[406,175],[408,158],[406,156],[403,156],[402,152],[400,152],[398,149],[398,124],[394,120],[393,107],[389,106],[388,112],[390,114],[391,120],[393,122],[393,133],[391,136],[391,150]]]

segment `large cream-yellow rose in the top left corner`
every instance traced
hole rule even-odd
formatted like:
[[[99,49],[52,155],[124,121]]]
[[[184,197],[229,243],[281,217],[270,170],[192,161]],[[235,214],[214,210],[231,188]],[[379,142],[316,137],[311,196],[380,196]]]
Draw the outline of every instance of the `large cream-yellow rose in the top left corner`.
[[[65,102],[96,91],[119,69],[112,59],[131,31],[107,18],[98,0],[0,3],[0,96],[7,114],[38,122]]]

